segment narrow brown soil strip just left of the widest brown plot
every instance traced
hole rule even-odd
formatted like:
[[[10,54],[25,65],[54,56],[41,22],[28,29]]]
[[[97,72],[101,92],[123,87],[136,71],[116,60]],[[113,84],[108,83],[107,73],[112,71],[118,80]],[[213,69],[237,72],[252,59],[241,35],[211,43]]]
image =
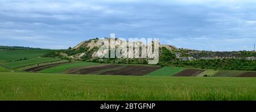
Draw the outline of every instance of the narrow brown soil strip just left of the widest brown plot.
[[[83,69],[71,69],[69,70],[68,73],[71,74],[89,74],[89,73],[93,73],[96,72],[98,70],[103,70],[103,69],[112,69],[112,68],[117,68],[120,65],[105,65],[102,67],[92,67],[92,68],[83,68]]]

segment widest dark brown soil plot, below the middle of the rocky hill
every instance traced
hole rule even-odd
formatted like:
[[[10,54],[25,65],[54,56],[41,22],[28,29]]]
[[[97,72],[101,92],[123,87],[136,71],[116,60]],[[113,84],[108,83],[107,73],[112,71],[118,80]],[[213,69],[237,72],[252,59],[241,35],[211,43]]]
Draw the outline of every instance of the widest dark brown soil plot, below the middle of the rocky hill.
[[[110,70],[100,74],[109,74],[109,75],[124,75],[124,76],[143,76],[145,74],[154,72],[155,70],[160,69],[160,67],[148,67],[148,66],[138,66],[131,65],[118,70]]]

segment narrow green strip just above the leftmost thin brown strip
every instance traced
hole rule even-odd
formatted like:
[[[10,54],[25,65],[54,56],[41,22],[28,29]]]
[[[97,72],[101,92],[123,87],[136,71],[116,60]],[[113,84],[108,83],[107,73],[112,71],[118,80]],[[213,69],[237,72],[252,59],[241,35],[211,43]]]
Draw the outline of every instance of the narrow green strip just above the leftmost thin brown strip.
[[[47,63],[47,62],[58,61],[58,60],[60,60],[60,59],[40,57],[40,58],[34,58],[34,59],[28,59],[28,60],[13,61],[13,62],[5,63],[2,65],[4,65],[5,67],[9,67],[9,68],[19,68],[19,67],[24,67],[27,65]]]

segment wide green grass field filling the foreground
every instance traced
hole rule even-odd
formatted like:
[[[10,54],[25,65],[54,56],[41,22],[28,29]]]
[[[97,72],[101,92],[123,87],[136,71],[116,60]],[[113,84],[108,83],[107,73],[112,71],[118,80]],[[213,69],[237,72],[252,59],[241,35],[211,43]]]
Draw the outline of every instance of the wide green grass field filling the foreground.
[[[255,79],[0,72],[0,100],[256,100]]]

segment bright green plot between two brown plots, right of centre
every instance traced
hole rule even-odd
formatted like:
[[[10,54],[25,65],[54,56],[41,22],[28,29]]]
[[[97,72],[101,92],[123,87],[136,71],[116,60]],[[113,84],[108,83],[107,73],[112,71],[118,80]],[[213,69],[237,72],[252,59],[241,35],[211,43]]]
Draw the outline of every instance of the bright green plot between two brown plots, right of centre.
[[[179,67],[163,67],[154,72],[147,74],[147,76],[174,76],[174,74],[181,72],[184,68]]]

